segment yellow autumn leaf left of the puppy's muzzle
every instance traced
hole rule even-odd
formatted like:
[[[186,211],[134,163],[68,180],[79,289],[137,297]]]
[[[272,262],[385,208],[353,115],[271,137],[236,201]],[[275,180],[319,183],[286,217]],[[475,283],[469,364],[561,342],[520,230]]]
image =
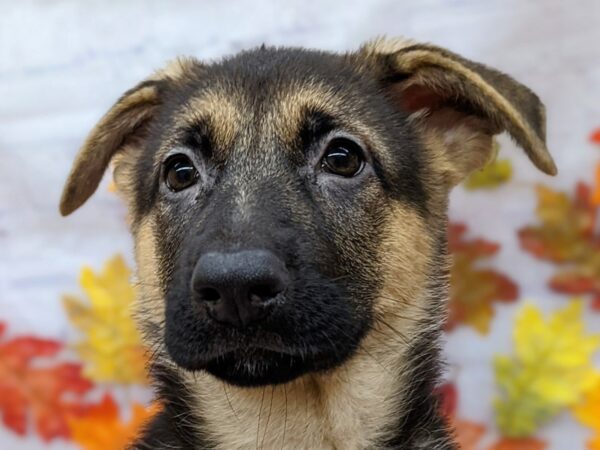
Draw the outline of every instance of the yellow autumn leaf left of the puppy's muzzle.
[[[82,335],[75,349],[94,381],[146,383],[146,353],[131,317],[135,290],[129,277],[125,261],[115,256],[101,274],[82,269],[87,300],[63,298],[69,320]]]

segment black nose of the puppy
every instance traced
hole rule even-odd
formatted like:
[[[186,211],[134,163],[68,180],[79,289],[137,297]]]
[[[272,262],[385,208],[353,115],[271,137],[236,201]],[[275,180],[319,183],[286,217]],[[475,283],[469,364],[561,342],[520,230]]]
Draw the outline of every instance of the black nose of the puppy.
[[[213,319],[245,327],[265,317],[270,300],[285,290],[288,280],[285,264],[269,251],[212,252],[196,263],[192,289]]]

